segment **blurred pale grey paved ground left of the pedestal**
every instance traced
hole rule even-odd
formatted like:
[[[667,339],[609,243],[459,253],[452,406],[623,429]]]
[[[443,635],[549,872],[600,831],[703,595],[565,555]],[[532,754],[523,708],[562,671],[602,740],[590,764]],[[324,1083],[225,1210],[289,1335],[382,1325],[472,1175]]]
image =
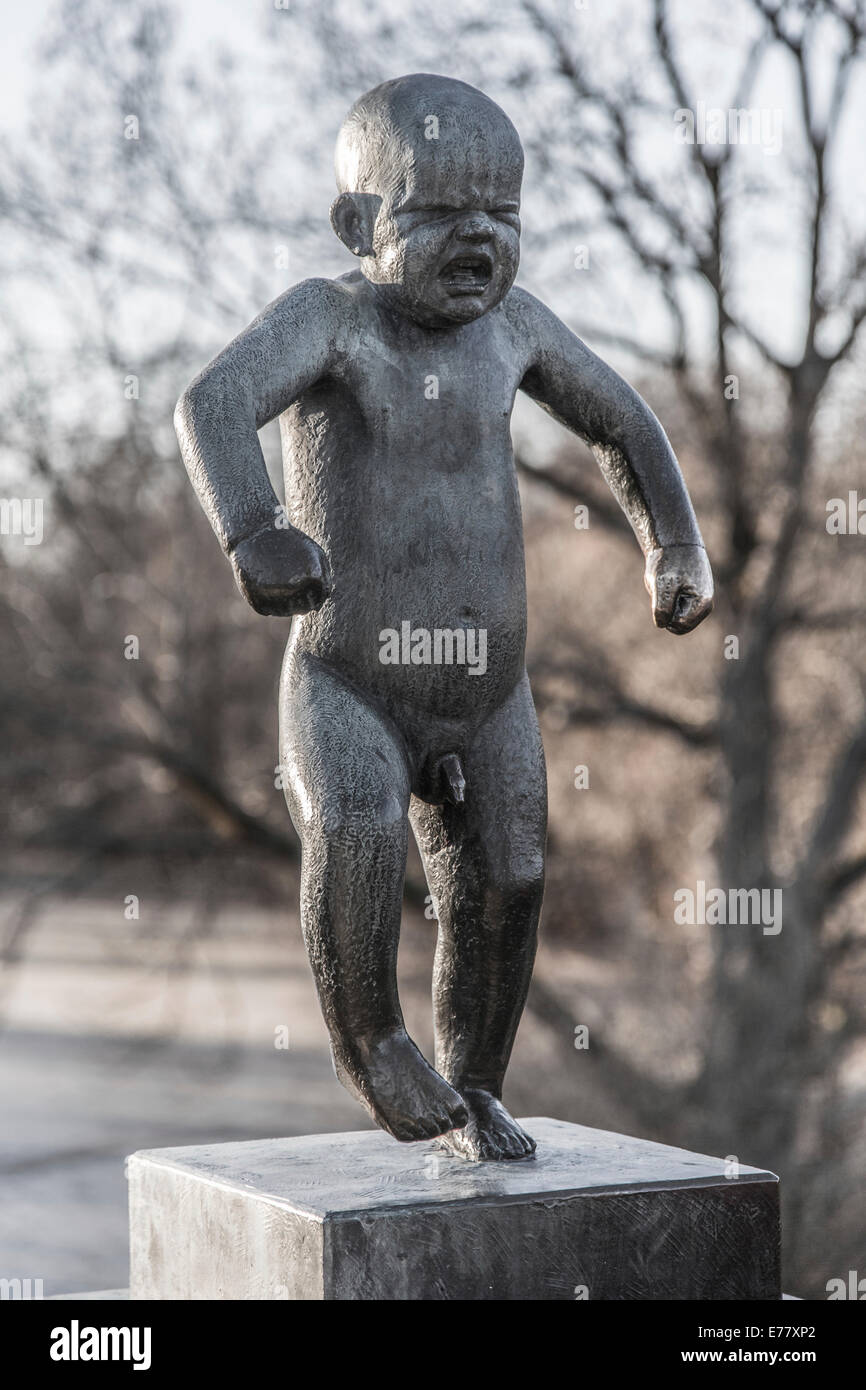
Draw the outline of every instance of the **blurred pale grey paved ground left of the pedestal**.
[[[1,1273],[46,1294],[126,1283],[126,1154],[366,1127],[322,1051],[11,1033],[0,1095]]]

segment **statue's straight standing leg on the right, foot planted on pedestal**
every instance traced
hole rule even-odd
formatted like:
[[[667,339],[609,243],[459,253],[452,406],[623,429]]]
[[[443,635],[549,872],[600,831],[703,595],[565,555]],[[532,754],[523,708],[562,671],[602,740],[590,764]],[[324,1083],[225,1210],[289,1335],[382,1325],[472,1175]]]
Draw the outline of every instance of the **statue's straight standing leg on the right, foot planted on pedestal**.
[[[473,1159],[525,1158],[535,1144],[500,1104],[544,892],[546,777],[525,677],[477,734],[464,776],[461,805],[410,808],[439,919],[436,1066],[470,1111],[448,1144]]]

